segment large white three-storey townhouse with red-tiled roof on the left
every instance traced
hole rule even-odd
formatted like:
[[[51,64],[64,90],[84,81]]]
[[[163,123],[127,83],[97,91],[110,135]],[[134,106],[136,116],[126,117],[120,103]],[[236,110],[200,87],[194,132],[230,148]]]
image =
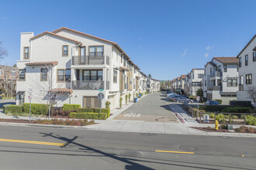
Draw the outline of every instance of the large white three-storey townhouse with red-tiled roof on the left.
[[[102,107],[109,101],[113,109],[126,94],[146,90],[144,73],[116,42],[65,27],[37,36],[22,32],[17,66],[16,104],[29,102],[32,90],[32,103],[99,107],[102,90]]]

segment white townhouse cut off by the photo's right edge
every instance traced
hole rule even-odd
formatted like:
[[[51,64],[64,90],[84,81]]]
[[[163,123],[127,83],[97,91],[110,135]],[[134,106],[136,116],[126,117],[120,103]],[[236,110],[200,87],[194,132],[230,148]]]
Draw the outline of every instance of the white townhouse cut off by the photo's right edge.
[[[240,51],[237,59],[239,66],[237,100],[251,101],[255,107],[255,101],[249,97],[249,93],[256,90],[256,35]]]

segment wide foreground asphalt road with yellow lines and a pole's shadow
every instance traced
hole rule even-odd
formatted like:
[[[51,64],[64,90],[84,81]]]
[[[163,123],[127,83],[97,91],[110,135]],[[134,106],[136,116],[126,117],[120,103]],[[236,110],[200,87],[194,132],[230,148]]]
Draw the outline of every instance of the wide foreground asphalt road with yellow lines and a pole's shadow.
[[[255,160],[255,138],[0,125],[1,169],[256,169]]]

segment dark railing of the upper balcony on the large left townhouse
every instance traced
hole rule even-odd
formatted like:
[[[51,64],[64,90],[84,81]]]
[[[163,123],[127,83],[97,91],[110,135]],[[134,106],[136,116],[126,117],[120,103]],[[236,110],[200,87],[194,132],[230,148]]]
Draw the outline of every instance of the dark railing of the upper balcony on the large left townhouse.
[[[72,56],[72,65],[109,65],[109,56]]]

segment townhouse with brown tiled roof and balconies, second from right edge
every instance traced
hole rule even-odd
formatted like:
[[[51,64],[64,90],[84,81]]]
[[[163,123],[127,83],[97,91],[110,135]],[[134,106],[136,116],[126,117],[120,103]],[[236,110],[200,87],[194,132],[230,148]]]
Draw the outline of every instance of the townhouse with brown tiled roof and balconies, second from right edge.
[[[213,57],[206,63],[202,78],[203,97],[206,100],[220,99],[223,104],[237,99],[237,64],[236,57]]]

